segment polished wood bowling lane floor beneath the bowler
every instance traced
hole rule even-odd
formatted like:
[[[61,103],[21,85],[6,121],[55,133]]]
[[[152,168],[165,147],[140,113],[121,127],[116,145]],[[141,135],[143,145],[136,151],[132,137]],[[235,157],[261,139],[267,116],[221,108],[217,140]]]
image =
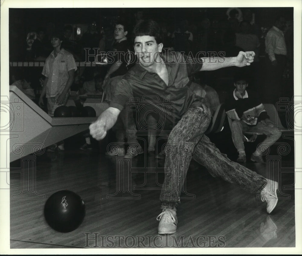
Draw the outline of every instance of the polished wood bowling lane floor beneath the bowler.
[[[218,136],[216,140],[221,138]],[[24,159],[11,164],[10,184],[18,188],[11,189],[10,246],[295,247],[295,200],[294,187],[291,186],[294,184],[294,144],[291,139],[281,142],[290,145],[290,152],[281,157],[278,167],[278,173],[282,173],[279,201],[272,214],[266,213],[265,203],[255,194],[249,194],[221,178],[213,178],[205,168],[191,162],[178,209],[177,232],[158,236],[156,216],[161,212],[159,194],[164,161],[156,160],[154,155],[131,159],[129,184],[121,187],[116,172],[120,160],[104,155],[104,145],[100,144],[101,150],[96,146],[98,144],[94,144],[93,150],[82,151],[74,145],[68,147],[67,141],[64,152],[46,152],[33,157],[34,164],[23,168],[21,162]],[[222,152],[232,153],[225,142],[220,144],[224,145],[221,146]],[[230,158],[234,157],[236,155],[230,155]],[[22,179],[21,174],[23,177],[29,175],[33,165],[36,181],[32,186],[21,182],[26,179]],[[246,166],[266,176],[266,165],[248,161]],[[284,188],[285,185],[288,187]],[[81,226],[69,233],[51,229],[43,216],[47,198],[63,189],[79,194],[86,206]],[[95,235],[97,242],[93,240]]]

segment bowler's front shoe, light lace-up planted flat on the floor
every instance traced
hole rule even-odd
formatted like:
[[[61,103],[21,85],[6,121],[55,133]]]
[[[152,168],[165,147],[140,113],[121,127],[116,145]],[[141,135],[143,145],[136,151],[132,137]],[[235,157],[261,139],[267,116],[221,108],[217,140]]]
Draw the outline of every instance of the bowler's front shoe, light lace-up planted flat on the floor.
[[[164,209],[156,219],[159,220],[158,233],[160,235],[174,234],[176,232],[177,216],[175,211]]]

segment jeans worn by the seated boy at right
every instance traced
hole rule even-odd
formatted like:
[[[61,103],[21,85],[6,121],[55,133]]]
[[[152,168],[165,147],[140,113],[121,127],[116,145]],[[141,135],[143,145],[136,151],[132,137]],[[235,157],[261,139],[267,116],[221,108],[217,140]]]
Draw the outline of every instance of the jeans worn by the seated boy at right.
[[[270,147],[272,143],[276,142],[282,134],[276,130],[276,127],[270,128],[261,122],[257,123],[255,126],[250,126],[244,123],[242,120],[233,120],[230,128],[232,132],[232,139],[238,153],[244,152],[243,132],[264,133],[267,135],[267,137],[262,143],[265,143],[268,147]]]

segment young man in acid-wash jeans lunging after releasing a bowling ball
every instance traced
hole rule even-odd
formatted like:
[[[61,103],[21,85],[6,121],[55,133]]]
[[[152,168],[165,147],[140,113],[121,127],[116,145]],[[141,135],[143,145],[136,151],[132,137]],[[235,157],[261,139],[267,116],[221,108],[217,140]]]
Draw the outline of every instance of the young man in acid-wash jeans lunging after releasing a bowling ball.
[[[165,158],[165,181],[161,191],[162,212],[158,215],[159,234],[176,232],[176,210],[180,203],[180,194],[189,163],[195,161],[207,168],[214,177],[220,176],[226,181],[236,183],[250,193],[261,193],[262,201],[267,203],[267,212],[275,208],[278,198],[278,183],[268,180],[238,163],[230,161],[210,142],[204,132],[210,123],[211,113],[207,102],[194,95],[188,88],[189,76],[194,72],[215,70],[228,66],[249,66],[253,62],[254,52],[239,52],[238,56],[223,61],[204,58],[198,61],[181,61],[180,54],[161,56],[162,39],[160,28],[155,21],[141,21],[134,28],[134,49],[139,63],[128,71],[117,84],[113,99],[95,123],[90,125],[90,134],[97,140],[103,139],[114,125],[120,111],[130,98],[141,99],[146,95],[157,95],[160,101],[173,102],[173,115],[165,118],[174,126],[169,134],[168,144],[173,154]],[[175,163],[173,156],[182,157]]]

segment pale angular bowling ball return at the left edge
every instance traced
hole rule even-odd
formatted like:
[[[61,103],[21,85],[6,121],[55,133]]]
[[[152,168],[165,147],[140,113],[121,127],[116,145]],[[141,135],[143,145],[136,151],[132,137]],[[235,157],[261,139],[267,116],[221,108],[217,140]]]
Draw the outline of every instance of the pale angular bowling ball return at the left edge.
[[[46,147],[88,131],[97,117],[50,117],[16,86],[9,98],[1,96],[1,115],[8,115],[2,135],[8,136],[10,162],[29,154],[42,154]],[[6,113],[5,113],[6,112]],[[6,119],[5,119],[6,120]]]

